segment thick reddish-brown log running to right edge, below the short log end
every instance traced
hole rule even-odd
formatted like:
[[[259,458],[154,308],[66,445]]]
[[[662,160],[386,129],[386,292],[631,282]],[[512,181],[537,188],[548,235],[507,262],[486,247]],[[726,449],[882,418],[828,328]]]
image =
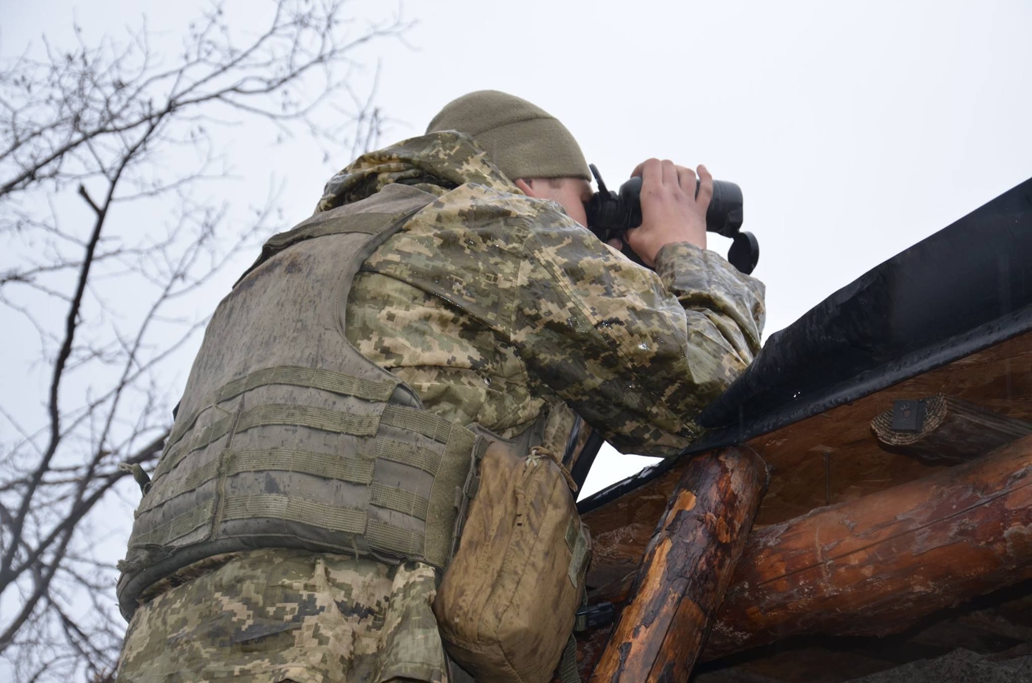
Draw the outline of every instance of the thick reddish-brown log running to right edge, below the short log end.
[[[923,480],[753,531],[706,644],[884,636],[1032,578],[1032,436]]]

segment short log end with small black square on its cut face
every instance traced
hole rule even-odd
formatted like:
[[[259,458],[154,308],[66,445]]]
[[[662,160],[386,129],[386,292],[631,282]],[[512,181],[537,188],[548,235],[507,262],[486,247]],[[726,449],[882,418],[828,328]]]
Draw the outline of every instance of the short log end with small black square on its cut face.
[[[903,413],[912,424],[902,428]],[[878,441],[894,453],[933,461],[965,462],[1032,434],[1032,424],[965,400],[934,394],[896,401],[871,421]]]

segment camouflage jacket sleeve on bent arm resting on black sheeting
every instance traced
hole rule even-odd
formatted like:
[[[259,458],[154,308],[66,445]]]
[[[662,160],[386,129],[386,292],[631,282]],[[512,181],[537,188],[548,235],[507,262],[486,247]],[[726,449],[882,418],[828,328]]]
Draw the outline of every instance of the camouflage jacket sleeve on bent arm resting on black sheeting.
[[[530,371],[621,452],[683,450],[760,350],[763,283],[688,243],[653,272],[552,208],[523,249],[511,342]]]

